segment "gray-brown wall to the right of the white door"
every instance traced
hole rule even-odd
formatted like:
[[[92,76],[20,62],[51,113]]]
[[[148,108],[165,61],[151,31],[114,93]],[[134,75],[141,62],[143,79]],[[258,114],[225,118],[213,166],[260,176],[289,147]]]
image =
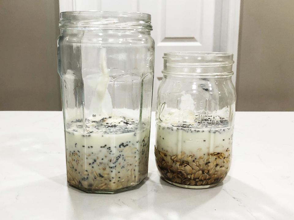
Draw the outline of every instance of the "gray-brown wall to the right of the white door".
[[[241,2],[237,111],[294,111],[294,1]]]

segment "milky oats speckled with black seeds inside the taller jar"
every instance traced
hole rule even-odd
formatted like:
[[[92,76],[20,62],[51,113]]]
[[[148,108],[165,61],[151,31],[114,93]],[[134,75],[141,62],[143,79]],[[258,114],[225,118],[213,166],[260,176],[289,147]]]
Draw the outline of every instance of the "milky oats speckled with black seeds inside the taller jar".
[[[124,116],[67,123],[68,182],[93,192],[138,185],[148,172],[149,133],[149,127]]]

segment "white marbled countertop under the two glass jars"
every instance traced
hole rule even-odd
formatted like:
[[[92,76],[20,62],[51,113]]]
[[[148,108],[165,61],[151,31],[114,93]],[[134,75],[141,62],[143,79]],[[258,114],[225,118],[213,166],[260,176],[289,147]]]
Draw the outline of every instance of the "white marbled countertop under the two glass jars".
[[[67,185],[62,112],[0,112],[0,138],[3,220],[294,219],[294,112],[236,112],[232,167],[211,189],[160,179],[154,121],[148,177],[113,195]]]

